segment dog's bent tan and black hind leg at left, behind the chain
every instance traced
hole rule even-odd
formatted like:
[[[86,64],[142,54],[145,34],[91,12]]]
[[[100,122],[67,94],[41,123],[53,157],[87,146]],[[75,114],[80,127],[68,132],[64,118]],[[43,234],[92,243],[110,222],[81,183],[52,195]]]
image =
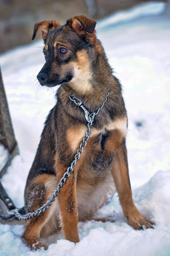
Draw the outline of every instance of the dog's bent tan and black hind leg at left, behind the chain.
[[[42,174],[35,177],[26,187],[25,191],[27,211],[33,212],[46,203],[56,189],[56,186],[57,182],[55,175]],[[50,227],[50,218],[55,214],[56,204],[56,201],[53,202],[52,206],[50,206],[49,209],[46,209],[44,213],[41,213],[39,216],[31,218],[26,222],[26,230],[22,237],[26,240],[32,250],[37,250],[41,247],[44,247],[45,250],[48,248],[45,244],[40,242],[40,234],[42,230],[46,230],[46,234],[44,234],[43,231],[43,235],[51,233],[51,230],[45,227],[46,225]],[[56,221],[58,221],[57,216]]]

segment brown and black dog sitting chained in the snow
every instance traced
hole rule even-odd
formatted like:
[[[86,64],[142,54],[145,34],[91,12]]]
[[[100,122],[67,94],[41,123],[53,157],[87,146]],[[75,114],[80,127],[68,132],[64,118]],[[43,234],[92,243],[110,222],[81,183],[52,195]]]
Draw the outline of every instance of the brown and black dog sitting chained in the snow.
[[[35,160],[25,188],[25,208],[33,212],[52,195],[68,166],[74,160],[87,129],[84,111],[69,96],[80,99],[95,116],[87,146],[57,200],[44,213],[26,222],[23,238],[32,249],[47,246],[40,236],[48,236],[62,226],[65,238],[77,243],[78,221],[95,219],[95,212],[115,193],[124,216],[135,230],[154,224],[136,209],[127,162],[127,111],[121,84],[112,74],[94,20],[75,16],[61,26],[45,20],[35,24],[35,38],[41,31],[46,63],[37,75],[42,86],[61,84],[57,104],[50,111],[41,135]]]

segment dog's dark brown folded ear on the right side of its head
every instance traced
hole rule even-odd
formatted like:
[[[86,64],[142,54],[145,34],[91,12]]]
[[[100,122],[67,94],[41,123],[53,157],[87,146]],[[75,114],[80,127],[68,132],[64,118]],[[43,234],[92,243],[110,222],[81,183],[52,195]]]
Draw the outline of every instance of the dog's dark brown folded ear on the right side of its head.
[[[94,32],[96,22],[84,15],[77,15],[68,20],[67,24],[69,24],[80,37],[85,37],[87,33],[92,34]]]

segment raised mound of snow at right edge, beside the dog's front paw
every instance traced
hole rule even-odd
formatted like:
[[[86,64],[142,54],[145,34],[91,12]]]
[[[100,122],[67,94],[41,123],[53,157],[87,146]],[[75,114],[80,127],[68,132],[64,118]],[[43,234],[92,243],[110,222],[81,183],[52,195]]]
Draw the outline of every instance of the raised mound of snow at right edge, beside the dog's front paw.
[[[138,209],[143,209],[143,215],[154,216],[159,227],[170,229],[170,170],[156,172],[147,183],[135,189],[133,198]]]

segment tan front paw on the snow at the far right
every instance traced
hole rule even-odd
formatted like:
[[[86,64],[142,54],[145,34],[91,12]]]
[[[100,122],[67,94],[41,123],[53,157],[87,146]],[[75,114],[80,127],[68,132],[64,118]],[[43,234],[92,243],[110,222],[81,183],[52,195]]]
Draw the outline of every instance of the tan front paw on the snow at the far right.
[[[126,216],[127,222],[134,230],[144,230],[144,228],[154,228],[155,223],[150,219],[142,217],[138,212]]]

